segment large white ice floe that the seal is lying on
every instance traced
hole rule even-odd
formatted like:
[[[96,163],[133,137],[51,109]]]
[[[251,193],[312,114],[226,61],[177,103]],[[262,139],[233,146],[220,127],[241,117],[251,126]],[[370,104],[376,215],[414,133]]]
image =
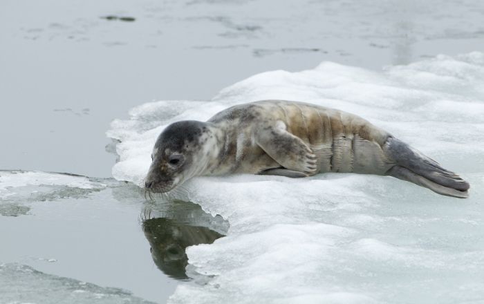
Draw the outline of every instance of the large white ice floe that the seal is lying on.
[[[185,199],[227,218],[230,230],[187,250],[192,273],[214,278],[179,285],[171,303],[484,301],[483,53],[382,72],[323,62],[254,75],[208,102],[144,104],[108,132],[120,140],[113,176],[141,184],[167,124],[260,99],[361,115],[469,180],[470,198],[374,175],[194,178]]]

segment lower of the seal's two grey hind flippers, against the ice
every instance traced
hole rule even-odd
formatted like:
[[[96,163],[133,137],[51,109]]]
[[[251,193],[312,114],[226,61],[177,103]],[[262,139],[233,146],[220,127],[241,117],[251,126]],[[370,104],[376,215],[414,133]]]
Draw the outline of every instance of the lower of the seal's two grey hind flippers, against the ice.
[[[432,182],[423,176],[420,176],[405,167],[395,166],[388,171],[388,174],[394,178],[400,178],[400,180],[407,180],[407,182],[413,182],[419,186],[425,187],[443,196],[454,196],[454,198],[468,198],[469,192],[460,191],[454,188],[445,187],[436,182]]]

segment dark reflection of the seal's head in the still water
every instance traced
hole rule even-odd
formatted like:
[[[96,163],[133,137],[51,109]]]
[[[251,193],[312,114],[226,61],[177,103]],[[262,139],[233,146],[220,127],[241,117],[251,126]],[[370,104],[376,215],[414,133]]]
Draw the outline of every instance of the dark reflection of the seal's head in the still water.
[[[151,246],[151,257],[158,269],[171,278],[184,280],[189,278],[185,269],[188,265],[185,249],[192,245],[212,244],[224,235],[208,227],[221,222],[220,216],[214,218],[190,202],[180,202],[180,205],[189,207],[173,213],[176,209],[174,206],[175,208],[170,207],[169,215],[145,218],[142,228]],[[218,223],[218,228],[224,230],[224,224]]]

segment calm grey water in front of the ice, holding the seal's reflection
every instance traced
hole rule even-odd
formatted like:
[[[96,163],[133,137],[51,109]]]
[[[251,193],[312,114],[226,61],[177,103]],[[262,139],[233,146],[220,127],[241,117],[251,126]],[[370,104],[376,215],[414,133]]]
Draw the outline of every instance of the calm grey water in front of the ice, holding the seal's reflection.
[[[104,301],[113,297],[106,287],[165,303],[176,280],[189,280],[185,248],[212,243],[228,229],[190,202],[154,202],[131,184],[95,182],[93,189],[15,187],[0,197],[0,264],[8,263],[0,268],[0,303],[71,303],[76,289],[66,287],[66,278],[100,286],[84,291],[103,294],[99,303],[111,303]],[[34,276],[29,267],[44,274]],[[39,297],[42,290],[50,297]]]

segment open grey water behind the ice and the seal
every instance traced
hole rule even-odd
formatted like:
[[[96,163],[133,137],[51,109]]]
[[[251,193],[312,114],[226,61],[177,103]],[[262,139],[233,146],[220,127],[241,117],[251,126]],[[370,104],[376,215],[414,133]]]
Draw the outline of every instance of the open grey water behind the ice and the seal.
[[[326,60],[483,50],[482,20],[479,0],[3,0],[0,168],[109,177],[104,131],[133,106]]]

